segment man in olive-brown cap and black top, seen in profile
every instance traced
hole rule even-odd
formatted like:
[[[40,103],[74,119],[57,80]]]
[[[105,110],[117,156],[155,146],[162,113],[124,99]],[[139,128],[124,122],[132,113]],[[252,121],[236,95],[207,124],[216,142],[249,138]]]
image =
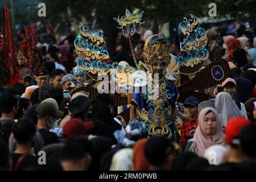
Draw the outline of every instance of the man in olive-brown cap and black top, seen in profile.
[[[56,126],[56,118],[63,117],[63,112],[57,110],[50,102],[43,102],[36,107],[38,116],[38,129],[44,140],[44,146],[51,143],[59,143],[59,138],[55,133],[50,132]]]

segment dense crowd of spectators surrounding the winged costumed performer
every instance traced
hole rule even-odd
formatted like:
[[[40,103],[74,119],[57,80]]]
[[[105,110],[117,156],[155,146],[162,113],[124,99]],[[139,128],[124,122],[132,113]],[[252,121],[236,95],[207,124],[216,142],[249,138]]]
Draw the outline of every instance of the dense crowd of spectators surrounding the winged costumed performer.
[[[132,39],[135,57],[143,61],[147,30]],[[241,24],[234,35],[210,28],[209,59],[228,61],[230,75],[205,89],[213,100],[187,97],[176,110],[183,120],[180,140],[147,138],[146,124],[126,121],[111,94],[71,96],[96,82],[76,66],[75,35],[40,37],[44,67],[20,71],[20,82],[1,87],[1,170],[255,170],[256,169],[256,37]],[[119,36],[112,61],[135,67],[129,41]],[[179,40],[172,54],[179,56]],[[178,105],[178,104],[177,104]],[[40,151],[46,158],[42,159]],[[39,163],[45,160],[45,163]]]

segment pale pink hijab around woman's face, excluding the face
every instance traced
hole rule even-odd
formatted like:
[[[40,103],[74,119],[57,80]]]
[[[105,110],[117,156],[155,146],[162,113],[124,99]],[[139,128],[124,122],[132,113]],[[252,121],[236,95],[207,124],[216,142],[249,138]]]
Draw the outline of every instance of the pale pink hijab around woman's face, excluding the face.
[[[217,131],[214,135],[208,136],[204,133],[204,117],[208,113],[208,111],[212,111],[217,119]],[[198,126],[196,128],[194,137],[189,140],[192,142],[189,151],[195,152],[200,157],[203,157],[205,150],[208,147],[213,146],[214,144],[224,144],[225,143],[225,134],[223,133],[222,124],[220,119],[218,118],[218,113],[212,107],[205,107],[200,111],[198,117]]]

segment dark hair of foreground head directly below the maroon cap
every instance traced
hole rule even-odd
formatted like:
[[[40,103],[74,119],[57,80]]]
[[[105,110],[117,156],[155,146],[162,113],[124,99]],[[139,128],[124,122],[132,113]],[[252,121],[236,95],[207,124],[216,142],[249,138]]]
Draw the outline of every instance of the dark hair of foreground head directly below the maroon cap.
[[[67,144],[61,151],[61,160],[72,160],[77,162],[85,158],[85,151],[79,144]]]

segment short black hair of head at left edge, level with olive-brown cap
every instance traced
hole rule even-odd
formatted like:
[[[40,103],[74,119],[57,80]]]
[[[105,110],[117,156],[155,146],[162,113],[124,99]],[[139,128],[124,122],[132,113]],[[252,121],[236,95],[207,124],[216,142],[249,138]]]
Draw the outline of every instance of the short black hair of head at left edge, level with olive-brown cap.
[[[0,109],[2,113],[10,113],[14,106],[16,106],[18,103],[15,96],[11,94],[7,94],[3,96],[0,100]]]

